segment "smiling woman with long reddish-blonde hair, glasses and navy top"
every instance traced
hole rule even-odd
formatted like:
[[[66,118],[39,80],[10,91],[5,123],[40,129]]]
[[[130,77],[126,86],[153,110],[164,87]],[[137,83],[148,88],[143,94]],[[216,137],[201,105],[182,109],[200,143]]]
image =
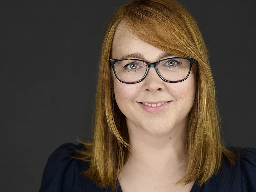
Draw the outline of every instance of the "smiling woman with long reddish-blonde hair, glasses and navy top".
[[[207,50],[175,1],[116,12],[94,118],[92,142],[49,157],[40,191],[256,191],[256,149],[223,145]]]

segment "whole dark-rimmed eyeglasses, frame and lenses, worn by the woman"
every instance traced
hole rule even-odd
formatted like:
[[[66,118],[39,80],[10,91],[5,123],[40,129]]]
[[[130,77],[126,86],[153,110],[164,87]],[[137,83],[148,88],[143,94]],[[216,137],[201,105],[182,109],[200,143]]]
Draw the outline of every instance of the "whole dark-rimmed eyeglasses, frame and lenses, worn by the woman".
[[[154,67],[158,76],[166,82],[176,83],[188,78],[195,59],[188,57],[172,57],[149,63],[139,59],[110,59],[109,64],[116,78],[122,83],[139,83]]]

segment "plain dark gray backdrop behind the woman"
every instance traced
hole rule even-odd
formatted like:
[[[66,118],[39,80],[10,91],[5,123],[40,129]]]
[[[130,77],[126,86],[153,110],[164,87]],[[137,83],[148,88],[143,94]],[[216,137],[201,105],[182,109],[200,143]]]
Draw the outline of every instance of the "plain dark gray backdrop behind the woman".
[[[1,186],[38,191],[48,156],[87,140],[111,12],[128,1],[17,1],[1,11]],[[210,54],[229,146],[256,147],[255,1],[182,0]]]

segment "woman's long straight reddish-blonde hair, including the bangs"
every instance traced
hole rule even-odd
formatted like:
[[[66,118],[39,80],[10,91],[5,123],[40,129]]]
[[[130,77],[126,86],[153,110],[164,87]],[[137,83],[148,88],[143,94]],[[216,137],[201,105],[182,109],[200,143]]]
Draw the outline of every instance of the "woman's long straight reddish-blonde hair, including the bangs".
[[[80,140],[86,150],[78,151],[80,157],[76,157],[90,164],[83,174],[99,187],[110,186],[116,190],[117,176],[131,151],[125,116],[111,97],[113,82],[109,59],[120,23],[156,48],[197,61],[196,98],[187,127],[187,167],[176,184],[185,185],[197,179],[201,186],[220,169],[222,153],[232,164],[236,156],[221,140],[215,85],[203,37],[193,17],[173,0],[134,0],[112,17],[101,50],[92,142]]]

